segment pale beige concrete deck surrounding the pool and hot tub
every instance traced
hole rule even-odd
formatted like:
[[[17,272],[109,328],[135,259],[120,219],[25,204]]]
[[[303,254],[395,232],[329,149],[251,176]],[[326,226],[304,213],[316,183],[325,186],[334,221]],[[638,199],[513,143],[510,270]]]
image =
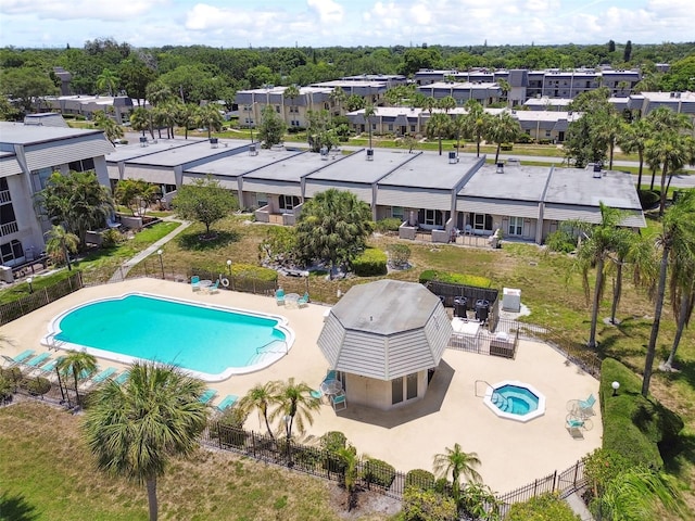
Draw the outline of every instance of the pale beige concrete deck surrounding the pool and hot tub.
[[[12,356],[27,348],[46,351],[40,340],[55,315],[94,298],[134,291],[287,317],[296,334],[290,353],[258,372],[208,384],[218,393],[213,403],[227,394],[243,396],[256,383],[290,377],[317,389],[326,374],[328,365],[316,345],[325,306],[309,304],[301,309],[285,309],[267,296],[230,291],[200,294],[193,293],[190,284],[148,278],[85,288],[3,326],[0,334],[12,345],[4,346],[2,353]],[[100,360],[100,366],[124,368],[111,360]],[[483,404],[484,383],[478,385],[476,396],[477,380],[491,384],[519,380],[534,385],[547,398],[545,415],[528,423],[498,418]],[[431,471],[433,456],[459,443],[464,450],[478,454],[484,482],[493,491],[505,493],[555,470],[563,471],[601,446],[598,404],[592,418],[594,427],[583,432],[583,439],[572,437],[565,428],[567,402],[584,399],[592,393],[598,395],[598,382],[593,377],[540,342],[521,341],[514,360],[446,350],[421,402],[389,412],[349,403],[348,409],[338,415],[329,405],[321,405],[307,434],[341,431],[359,454],[388,461],[402,471],[416,468]],[[256,415],[251,415],[247,427],[265,431]]]

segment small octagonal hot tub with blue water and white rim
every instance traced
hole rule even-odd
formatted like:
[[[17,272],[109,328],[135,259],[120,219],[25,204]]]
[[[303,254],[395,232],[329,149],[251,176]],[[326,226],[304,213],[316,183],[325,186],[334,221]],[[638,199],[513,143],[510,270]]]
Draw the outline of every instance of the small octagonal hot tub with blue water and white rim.
[[[533,385],[505,380],[488,386],[484,404],[500,418],[526,422],[545,414],[545,396]]]

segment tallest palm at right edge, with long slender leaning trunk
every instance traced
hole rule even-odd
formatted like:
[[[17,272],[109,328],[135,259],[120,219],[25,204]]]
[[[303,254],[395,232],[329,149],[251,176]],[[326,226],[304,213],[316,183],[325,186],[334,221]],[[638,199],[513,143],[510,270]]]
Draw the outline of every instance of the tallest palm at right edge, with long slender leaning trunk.
[[[649,382],[652,380],[669,264],[674,265],[682,262],[681,259],[695,257],[695,191],[688,190],[684,192],[675,204],[664,214],[657,245],[661,249],[661,260],[657,279],[654,321],[652,322],[652,333],[649,334],[642,380],[642,395],[645,398],[649,392]]]

